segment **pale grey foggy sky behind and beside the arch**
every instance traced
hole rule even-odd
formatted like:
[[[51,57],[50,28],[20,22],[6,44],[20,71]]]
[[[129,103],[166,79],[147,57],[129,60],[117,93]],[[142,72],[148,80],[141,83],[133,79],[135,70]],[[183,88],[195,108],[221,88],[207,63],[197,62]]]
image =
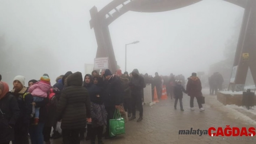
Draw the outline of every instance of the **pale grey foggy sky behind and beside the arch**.
[[[100,10],[110,1],[0,0],[0,34],[20,53],[51,49],[47,51],[61,61],[53,77],[69,70],[84,74],[84,64],[93,64],[97,51],[89,10],[94,5]],[[186,77],[197,71],[207,73],[210,64],[224,58],[225,43],[243,12],[222,0],[203,0],[168,12],[125,13],[109,26],[118,65],[124,72],[125,44],[138,40],[128,45],[128,72],[137,68],[144,74],[158,71]]]

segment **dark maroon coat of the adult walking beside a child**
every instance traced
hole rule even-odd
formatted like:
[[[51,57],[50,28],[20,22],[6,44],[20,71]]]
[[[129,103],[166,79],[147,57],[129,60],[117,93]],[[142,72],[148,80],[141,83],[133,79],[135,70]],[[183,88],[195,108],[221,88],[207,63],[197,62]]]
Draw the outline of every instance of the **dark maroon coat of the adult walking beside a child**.
[[[188,83],[187,83],[187,93],[188,96],[193,96],[193,97],[200,97],[202,96],[202,85],[201,81],[198,77],[190,77],[188,78]]]

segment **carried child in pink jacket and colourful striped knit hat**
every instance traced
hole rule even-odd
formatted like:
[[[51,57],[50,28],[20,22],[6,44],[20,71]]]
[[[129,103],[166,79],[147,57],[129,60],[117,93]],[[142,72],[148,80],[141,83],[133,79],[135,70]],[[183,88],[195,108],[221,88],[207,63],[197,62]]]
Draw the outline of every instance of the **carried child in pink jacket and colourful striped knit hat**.
[[[47,97],[47,93],[50,92],[50,89],[51,89],[50,78],[47,76],[42,76],[39,82],[33,84],[29,88],[28,92],[31,93],[34,99],[33,107],[35,106],[35,102],[43,101],[43,99]],[[35,108],[34,125],[38,125],[39,110],[40,108]]]

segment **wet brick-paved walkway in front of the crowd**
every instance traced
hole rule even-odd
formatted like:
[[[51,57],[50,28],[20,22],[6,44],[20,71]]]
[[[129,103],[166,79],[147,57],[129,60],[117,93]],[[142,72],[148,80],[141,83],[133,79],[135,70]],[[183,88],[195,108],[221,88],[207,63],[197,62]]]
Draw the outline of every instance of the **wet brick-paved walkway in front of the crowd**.
[[[206,91],[207,92],[207,91]],[[174,99],[160,100],[156,105],[144,105],[144,121],[127,122],[125,125],[126,134],[119,135],[111,140],[104,140],[105,144],[255,144],[255,140],[226,140],[218,137],[211,138],[208,135],[178,135],[179,130],[208,130],[209,127],[251,127],[249,123],[244,123],[240,119],[228,115],[229,112],[220,109],[215,105],[214,96],[205,96],[206,104],[204,112],[199,112],[199,108],[194,100],[195,111],[189,108],[189,96],[183,96],[184,112],[179,109],[174,110]],[[137,111],[138,112],[138,111]],[[138,113],[137,113],[138,118]],[[239,138],[239,137],[237,137]],[[251,138],[251,137],[250,137]],[[247,138],[249,139],[249,138]],[[61,139],[54,140],[55,144],[61,144]],[[89,144],[90,141],[81,141],[81,144]]]

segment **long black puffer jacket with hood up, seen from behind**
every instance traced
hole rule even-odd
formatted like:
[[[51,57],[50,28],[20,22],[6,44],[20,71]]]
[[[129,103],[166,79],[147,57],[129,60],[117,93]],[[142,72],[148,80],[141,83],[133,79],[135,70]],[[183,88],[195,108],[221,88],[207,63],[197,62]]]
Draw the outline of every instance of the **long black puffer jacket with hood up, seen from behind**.
[[[83,78],[80,72],[69,75],[67,87],[61,92],[57,104],[57,120],[61,128],[75,130],[86,126],[86,118],[91,117],[88,91],[82,87]]]

